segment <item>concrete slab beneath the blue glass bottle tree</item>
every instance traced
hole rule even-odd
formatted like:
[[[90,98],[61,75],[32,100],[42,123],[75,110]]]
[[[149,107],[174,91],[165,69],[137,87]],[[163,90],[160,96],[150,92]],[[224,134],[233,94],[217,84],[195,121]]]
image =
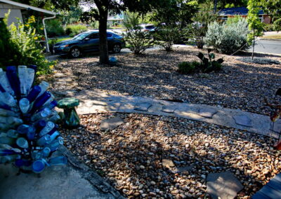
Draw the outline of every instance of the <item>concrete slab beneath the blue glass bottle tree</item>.
[[[123,198],[64,146],[55,153],[66,156],[67,165],[48,167],[41,177],[16,175],[13,165],[0,165],[0,198]]]

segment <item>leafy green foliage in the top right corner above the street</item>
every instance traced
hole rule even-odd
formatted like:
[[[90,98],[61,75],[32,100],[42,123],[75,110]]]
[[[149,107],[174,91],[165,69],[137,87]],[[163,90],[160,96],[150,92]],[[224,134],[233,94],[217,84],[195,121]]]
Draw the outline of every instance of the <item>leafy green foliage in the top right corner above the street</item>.
[[[264,12],[269,14],[273,22],[273,29],[281,31],[281,1],[280,0],[261,0]]]

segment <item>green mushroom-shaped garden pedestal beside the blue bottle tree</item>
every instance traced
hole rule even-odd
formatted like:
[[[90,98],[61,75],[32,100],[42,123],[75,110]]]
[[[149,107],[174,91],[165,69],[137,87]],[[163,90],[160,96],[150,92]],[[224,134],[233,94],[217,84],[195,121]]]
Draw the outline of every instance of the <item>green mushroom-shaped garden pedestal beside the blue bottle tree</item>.
[[[63,123],[66,128],[77,128],[80,125],[80,119],[75,110],[75,107],[78,107],[78,105],[79,99],[73,97],[58,101],[58,107],[63,109]]]

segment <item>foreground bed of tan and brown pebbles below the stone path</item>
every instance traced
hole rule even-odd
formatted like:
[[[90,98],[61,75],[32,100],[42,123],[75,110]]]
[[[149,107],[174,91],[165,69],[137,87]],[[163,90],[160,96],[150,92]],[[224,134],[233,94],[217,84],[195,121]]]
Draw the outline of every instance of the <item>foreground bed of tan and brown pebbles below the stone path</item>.
[[[114,130],[100,121],[118,116]],[[211,172],[233,172],[250,195],[281,171],[275,139],[183,118],[142,114],[82,115],[62,130],[65,146],[127,198],[204,198]]]

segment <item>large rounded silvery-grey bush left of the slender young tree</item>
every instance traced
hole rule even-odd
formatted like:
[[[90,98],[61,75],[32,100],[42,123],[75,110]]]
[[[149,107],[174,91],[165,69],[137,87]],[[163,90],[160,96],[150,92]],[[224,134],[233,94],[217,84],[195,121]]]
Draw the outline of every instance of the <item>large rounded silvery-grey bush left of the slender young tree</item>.
[[[247,21],[244,18],[229,25],[214,22],[209,25],[204,41],[207,46],[213,46],[221,53],[232,54],[240,48],[244,50],[249,47],[248,33]]]

